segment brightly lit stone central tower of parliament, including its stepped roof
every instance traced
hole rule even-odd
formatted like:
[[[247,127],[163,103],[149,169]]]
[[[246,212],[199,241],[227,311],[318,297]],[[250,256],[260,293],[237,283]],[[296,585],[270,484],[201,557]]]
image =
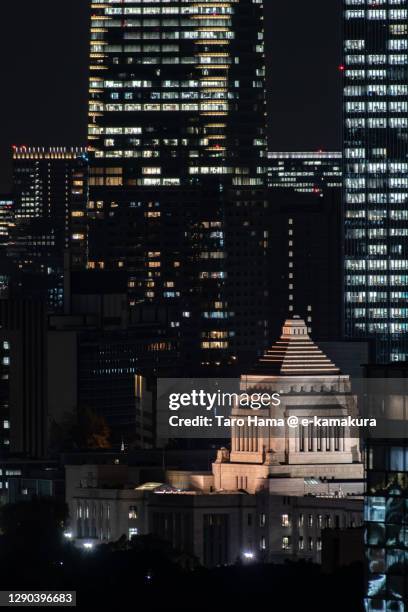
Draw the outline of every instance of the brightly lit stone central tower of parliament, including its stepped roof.
[[[350,377],[314,344],[302,319],[285,322],[280,339],[266,351],[248,374],[241,376],[242,393],[279,393],[281,404],[254,412],[235,407],[231,451],[221,449],[213,464],[214,488],[244,489],[250,493],[268,488],[271,492],[303,495],[306,485],[313,492],[361,488],[363,478],[358,431],[341,426],[309,423],[290,428],[288,419],[299,423],[314,417],[333,419],[358,416]],[[284,427],[248,424],[247,416],[284,419]]]

